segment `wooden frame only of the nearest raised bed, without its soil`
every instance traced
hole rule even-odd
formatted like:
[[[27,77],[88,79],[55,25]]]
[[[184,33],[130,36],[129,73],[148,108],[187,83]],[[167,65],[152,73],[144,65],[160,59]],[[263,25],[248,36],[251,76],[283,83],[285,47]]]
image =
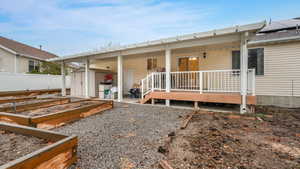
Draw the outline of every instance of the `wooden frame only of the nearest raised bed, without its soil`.
[[[60,169],[68,168],[77,161],[77,136],[0,122],[0,130],[33,136],[52,144],[21,158],[10,161],[0,169]]]

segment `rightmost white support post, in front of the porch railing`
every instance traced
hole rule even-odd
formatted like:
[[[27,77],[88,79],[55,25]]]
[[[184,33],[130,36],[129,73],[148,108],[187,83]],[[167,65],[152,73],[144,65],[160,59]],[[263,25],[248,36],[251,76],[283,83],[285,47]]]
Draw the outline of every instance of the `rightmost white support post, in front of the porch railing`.
[[[242,104],[240,113],[244,114],[247,112],[247,85],[248,85],[248,48],[247,39],[248,32],[241,35],[241,95]]]

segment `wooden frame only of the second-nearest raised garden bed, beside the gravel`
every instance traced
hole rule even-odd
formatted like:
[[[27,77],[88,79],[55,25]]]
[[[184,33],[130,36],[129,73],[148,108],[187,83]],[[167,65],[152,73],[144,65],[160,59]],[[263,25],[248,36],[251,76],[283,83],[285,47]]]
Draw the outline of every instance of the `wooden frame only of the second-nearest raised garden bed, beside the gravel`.
[[[82,100],[82,101],[87,101],[87,100]],[[90,101],[97,101],[97,100],[90,100]],[[80,102],[80,101],[76,101],[76,102]],[[72,108],[72,109],[67,109],[59,112],[54,112],[54,113],[39,115],[34,117],[19,115],[14,113],[0,112],[0,120],[3,120],[5,122],[10,122],[10,123],[16,123],[20,125],[25,125],[25,126],[37,127],[42,129],[51,129],[112,108],[113,108],[113,101],[99,101],[99,103],[81,106],[79,108]]]

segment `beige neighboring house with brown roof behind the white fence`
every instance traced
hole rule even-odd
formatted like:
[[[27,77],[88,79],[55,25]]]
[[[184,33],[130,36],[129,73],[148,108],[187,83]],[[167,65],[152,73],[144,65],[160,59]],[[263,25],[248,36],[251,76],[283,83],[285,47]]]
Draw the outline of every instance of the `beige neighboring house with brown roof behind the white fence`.
[[[40,70],[40,63],[57,56],[0,36],[0,72],[27,73]]]

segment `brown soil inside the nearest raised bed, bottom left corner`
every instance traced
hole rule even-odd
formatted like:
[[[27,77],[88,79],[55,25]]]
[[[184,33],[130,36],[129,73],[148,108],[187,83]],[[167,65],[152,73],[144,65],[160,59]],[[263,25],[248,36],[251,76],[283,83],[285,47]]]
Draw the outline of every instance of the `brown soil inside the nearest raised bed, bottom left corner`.
[[[43,139],[0,130],[0,166],[45,146],[47,142]]]

